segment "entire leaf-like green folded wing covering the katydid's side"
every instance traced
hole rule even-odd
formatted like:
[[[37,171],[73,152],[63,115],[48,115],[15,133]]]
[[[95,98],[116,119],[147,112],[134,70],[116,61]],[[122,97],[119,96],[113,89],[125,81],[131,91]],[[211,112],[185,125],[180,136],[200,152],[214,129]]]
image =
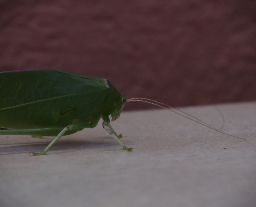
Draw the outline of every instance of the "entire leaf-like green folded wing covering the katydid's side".
[[[37,129],[90,123],[108,81],[55,70],[0,73],[0,127]]]

